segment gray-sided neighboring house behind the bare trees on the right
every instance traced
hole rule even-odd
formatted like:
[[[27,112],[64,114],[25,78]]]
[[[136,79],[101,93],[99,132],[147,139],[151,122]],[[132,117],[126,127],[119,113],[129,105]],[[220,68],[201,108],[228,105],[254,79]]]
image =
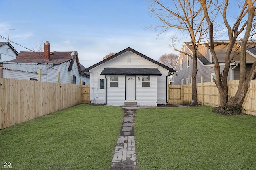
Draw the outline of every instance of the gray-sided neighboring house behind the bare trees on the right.
[[[229,41],[214,41],[214,49],[216,55],[218,57],[220,71],[224,70],[225,67],[225,57],[226,57],[226,49],[228,48]],[[238,47],[238,46],[237,46]],[[183,52],[192,55],[192,46],[190,42],[184,42],[182,45]],[[230,69],[228,73],[228,80],[239,80],[240,78],[240,47],[238,51],[232,52],[230,57],[234,57],[232,62],[230,63]],[[252,64],[256,60],[256,47],[250,47],[248,45],[248,49],[246,50],[246,70],[247,74],[250,71]],[[173,84],[188,84],[188,75],[190,78],[192,76],[192,59],[183,53],[180,53],[178,57],[178,61],[175,66],[175,74],[172,77]],[[212,59],[212,55],[210,53],[210,49],[208,49],[205,45],[205,42],[200,42],[197,50],[197,83],[201,82],[201,77],[203,77],[203,82],[213,82],[213,78],[215,78],[214,72],[214,61]],[[190,79],[192,82],[192,79]]]

